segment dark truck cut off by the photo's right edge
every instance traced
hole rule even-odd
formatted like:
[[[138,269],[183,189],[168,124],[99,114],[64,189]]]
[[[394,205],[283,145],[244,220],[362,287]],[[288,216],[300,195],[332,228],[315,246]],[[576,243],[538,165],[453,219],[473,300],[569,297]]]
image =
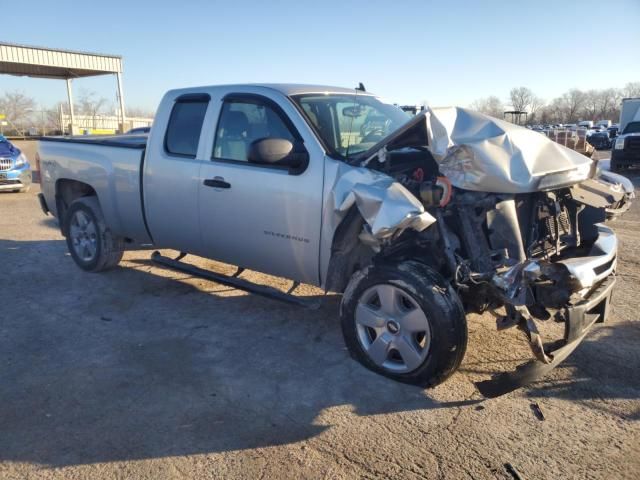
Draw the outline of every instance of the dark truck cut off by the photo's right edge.
[[[611,170],[640,165],[640,98],[625,98],[620,110],[618,136],[611,151]]]

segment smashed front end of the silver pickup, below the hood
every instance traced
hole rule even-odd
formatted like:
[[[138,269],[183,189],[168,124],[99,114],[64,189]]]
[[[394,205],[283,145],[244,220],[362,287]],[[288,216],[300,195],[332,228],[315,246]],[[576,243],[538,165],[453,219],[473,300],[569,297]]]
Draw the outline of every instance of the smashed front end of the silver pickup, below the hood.
[[[460,192],[442,216],[441,235],[461,246],[453,281],[467,308],[494,312],[498,330],[521,329],[536,359],[480,382],[487,397],[544,375],[608,316],[617,239],[600,223],[604,209],[582,203],[575,192]],[[545,322],[562,322],[563,338],[545,341]]]

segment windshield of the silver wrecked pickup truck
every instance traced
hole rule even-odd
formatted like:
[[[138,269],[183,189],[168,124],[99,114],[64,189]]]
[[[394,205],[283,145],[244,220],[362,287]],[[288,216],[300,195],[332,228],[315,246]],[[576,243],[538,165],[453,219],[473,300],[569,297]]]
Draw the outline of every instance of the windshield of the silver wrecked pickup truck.
[[[362,153],[412,117],[370,95],[296,95],[293,100],[334,153],[349,158]]]

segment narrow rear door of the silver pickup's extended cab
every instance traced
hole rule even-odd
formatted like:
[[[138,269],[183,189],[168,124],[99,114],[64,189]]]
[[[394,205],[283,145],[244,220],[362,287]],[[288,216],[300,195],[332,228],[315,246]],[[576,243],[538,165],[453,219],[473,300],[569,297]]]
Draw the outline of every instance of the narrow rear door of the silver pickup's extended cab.
[[[145,165],[144,206],[154,244],[186,252],[200,250],[198,217],[199,152],[202,125],[210,103],[206,93],[184,94],[157,118],[149,138]],[[158,139],[156,135],[164,135]]]

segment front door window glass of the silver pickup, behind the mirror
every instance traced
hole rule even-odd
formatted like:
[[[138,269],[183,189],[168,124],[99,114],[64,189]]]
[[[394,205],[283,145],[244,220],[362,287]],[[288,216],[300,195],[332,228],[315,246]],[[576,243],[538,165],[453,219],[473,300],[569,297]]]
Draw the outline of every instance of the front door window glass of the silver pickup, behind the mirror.
[[[218,120],[213,158],[246,162],[251,143],[262,138],[295,142],[295,136],[269,105],[226,101]]]

